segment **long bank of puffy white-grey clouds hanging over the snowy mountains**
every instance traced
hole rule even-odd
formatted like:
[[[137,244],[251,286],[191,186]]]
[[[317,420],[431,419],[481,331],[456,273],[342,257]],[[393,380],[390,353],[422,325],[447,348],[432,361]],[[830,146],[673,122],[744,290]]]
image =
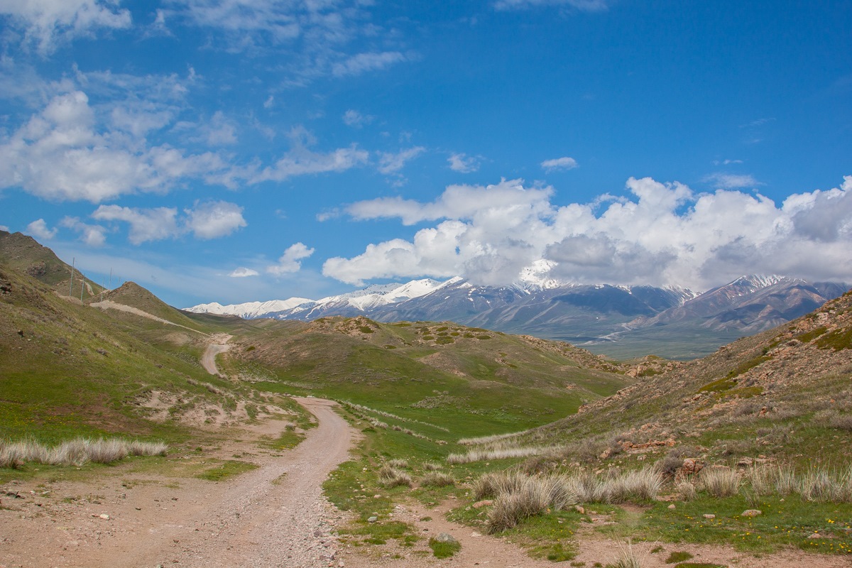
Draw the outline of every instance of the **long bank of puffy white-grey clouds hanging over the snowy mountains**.
[[[852,176],[838,188],[794,194],[780,205],[759,194],[696,194],[651,178],[630,178],[625,188],[625,198],[556,206],[550,187],[515,180],[449,186],[430,203],[383,198],[352,204],[346,212],[356,220],[440,222],[411,240],[331,258],[323,273],[355,285],[456,275],[509,284],[544,259],[550,277],[581,283],[705,290],[745,273],[852,280]]]

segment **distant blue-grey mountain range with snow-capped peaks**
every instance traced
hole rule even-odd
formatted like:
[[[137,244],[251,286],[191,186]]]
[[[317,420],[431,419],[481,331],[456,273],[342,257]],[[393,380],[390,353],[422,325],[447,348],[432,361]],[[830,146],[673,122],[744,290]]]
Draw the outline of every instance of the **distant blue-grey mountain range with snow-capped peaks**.
[[[210,303],[185,311],[248,319],[364,315],[382,322],[452,321],[568,341],[617,359],[648,353],[695,359],[809,313],[848,288],[777,275],[742,276],[700,294],[681,287],[560,284],[529,277],[502,287],[427,278],[320,300]]]

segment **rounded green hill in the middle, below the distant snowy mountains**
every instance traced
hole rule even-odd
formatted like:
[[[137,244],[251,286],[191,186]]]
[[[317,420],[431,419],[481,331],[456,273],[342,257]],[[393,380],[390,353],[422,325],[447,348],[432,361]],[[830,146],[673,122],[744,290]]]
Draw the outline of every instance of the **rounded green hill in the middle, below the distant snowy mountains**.
[[[565,343],[452,323],[270,322],[232,343],[233,374],[262,379],[258,388],[435,422],[448,431],[429,436],[445,441],[551,422],[631,381]]]

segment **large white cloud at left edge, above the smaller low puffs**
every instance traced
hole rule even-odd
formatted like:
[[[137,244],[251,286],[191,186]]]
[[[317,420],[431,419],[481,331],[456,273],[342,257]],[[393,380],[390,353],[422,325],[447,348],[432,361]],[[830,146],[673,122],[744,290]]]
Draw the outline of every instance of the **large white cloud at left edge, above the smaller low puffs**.
[[[144,141],[142,141],[144,142]],[[0,187],[20,186],[52,201],[99,203],[134,192],[164,192],[181,178],[227,183],[222,158],[147,147],[118,129],[98,129],[82,91],[56,95],[0,141]]]

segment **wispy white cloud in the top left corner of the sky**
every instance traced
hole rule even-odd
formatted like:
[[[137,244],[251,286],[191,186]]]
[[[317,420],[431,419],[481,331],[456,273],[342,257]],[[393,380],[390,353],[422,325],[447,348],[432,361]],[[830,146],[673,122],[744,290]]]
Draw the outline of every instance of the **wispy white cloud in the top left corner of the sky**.
[[[5,0],[0,14],[10,27],[24,32],[24,42],[42,55],[52,53],[62,40],[85,36],[98,28],[130,27],[130,10],[110,0]]]

